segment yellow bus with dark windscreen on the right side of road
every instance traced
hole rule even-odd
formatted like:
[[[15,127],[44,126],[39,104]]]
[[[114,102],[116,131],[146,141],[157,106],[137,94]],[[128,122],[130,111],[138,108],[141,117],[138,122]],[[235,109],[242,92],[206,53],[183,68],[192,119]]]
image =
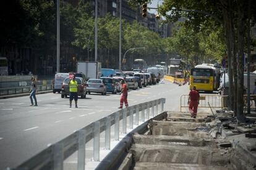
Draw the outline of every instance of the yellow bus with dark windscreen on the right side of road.
[[[189,83],[190,89],[195,86],[197,91],[217,91],[220,86],[220,70],[207,64],[197,65],[190,70]]]

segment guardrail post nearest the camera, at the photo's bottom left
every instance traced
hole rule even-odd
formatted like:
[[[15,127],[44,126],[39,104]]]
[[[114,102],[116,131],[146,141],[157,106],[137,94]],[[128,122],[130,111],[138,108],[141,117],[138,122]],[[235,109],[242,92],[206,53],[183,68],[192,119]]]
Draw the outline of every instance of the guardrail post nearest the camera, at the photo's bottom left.
[[[63,144],[56,143],[54,144],[54,155],[53,155],[53,161],[54,161],[54,170],[62,170],[63,169]]]

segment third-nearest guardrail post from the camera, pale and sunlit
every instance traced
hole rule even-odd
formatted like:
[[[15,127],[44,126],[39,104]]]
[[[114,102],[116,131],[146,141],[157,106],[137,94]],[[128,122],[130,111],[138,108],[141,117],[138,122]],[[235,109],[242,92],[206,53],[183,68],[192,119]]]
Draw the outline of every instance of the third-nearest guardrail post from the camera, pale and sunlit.
[[[100,121],[93,124],[93,160],[100,161]]]

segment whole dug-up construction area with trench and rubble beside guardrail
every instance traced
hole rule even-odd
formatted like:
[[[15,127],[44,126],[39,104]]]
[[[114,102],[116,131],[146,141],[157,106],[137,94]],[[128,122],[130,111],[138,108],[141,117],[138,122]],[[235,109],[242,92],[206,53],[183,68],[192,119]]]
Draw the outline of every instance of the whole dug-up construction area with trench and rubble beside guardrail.
[[[195,119],[164,111],[137,127],[97,169],[256,169],[254,121],[239,124],[232,111],[217,112]]]

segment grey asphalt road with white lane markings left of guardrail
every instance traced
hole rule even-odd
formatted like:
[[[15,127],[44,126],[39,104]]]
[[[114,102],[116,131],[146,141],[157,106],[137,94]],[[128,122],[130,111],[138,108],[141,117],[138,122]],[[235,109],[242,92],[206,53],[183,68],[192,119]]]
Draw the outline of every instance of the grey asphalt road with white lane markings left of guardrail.
[[[135,105],[166,98],[164,110],[179,111],[182,94],[188,94],[188,85],[163,81],[129,90],[128,103]],[[79,108],[69,108],[69,99],[61,94],[36,95],[38,107],[30,107],[28,96],[0,100],[0,169],[19,165],[47,147],[87,126],[97,119],[119,110],[119,94],[91,94],[79,99]]]

